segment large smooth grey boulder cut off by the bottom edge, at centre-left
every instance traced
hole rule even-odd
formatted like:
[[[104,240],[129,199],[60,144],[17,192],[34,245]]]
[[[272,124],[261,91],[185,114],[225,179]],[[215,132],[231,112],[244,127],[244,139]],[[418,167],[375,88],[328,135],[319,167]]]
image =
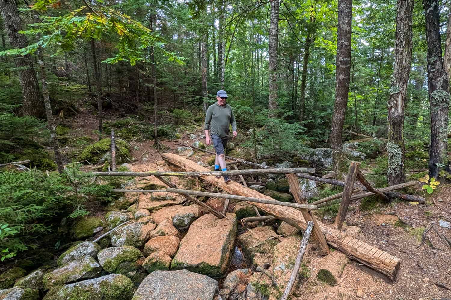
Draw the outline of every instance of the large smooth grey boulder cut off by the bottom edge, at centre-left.
[[[133,300],[213,300],[218,286],[216,280],[188,270],[155,271],[144,279]]]

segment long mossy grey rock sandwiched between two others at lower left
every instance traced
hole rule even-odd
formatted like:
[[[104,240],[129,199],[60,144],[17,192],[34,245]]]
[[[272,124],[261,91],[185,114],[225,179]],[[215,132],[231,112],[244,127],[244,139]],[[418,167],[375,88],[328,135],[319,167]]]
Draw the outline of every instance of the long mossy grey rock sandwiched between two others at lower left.
[[[46,273],[43,278],[44,289],[49,290],[56,285],[96,278],[101,273],[102,268],[97,264],[97,261],[86,255],[78,260],[72,260],[52,272]]]

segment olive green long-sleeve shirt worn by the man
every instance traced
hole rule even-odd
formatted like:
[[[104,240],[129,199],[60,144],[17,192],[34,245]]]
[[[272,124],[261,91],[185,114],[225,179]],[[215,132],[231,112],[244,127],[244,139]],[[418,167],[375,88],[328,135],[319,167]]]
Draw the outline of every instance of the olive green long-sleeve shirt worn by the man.
[[[229,104],[219,106],[216,102],[208,107],[204,130],[210,130],[210,134],[216,134],[221,138],[228,138],[230,134],[229,124],[232,124],[232,130],[236,131],[235,116]]]

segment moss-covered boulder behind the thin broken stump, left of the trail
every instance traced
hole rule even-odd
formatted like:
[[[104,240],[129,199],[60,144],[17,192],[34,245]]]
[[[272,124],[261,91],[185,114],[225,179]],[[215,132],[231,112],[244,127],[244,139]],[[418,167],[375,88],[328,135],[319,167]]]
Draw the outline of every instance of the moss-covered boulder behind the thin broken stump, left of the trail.
[[[97,143],[86,146],[80,153],[78,159],[81,161],[89,161],[90,163],[101,162],[105,159],[106,154],[110,151],[111,139],[101,139]],[[125,161],[130,154],[130,145],[123,139],[116,139],[116,162]]]

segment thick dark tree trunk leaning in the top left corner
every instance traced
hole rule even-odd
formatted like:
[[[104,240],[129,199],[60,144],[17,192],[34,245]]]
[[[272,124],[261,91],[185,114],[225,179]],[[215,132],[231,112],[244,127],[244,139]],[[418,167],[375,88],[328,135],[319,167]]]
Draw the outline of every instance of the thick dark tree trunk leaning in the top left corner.
[[[19,17],[16,2],[13,0],[0,0],[0,11],[5,21],[9,44],[13,48],[25,48],[28,40],[22,30],[22,20]],[[30,54],[16,55],[14,63],[18,68],[19,82],[22,88],[23,114],[27,116],[44,117],[44,102],[39,93],[39,84],[33,68],[33,59]]]

